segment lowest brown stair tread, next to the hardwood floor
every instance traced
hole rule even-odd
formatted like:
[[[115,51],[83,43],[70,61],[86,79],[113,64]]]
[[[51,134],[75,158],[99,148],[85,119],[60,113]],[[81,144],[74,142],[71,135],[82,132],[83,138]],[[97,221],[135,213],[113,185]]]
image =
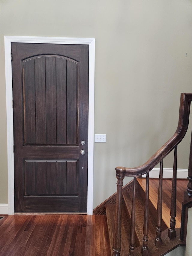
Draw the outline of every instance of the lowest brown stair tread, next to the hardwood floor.
[[[113,234],[115,224],[115,209],[116,205],[106,205],[107,224],[110,238],[111,254],[113,253]],[[122,242],[121,242],[121,256],[125,256],[129,253],[129,237],[130,237],[130,225],[127,219],[127,215],[124,207],[122,207]]]

